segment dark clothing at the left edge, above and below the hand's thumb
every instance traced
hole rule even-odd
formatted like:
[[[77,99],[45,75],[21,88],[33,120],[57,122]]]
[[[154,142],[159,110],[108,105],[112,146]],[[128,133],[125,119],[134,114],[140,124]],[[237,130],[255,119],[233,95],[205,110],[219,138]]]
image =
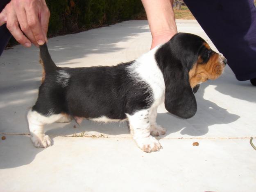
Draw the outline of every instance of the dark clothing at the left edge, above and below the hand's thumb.
[[[5,5],[7,5],[10,2],[10,0],[0,0],[0,12],[5,8]],[[6,24],[2,25],[0,27],[0,56],[5,49],[5,46],[7,45],[8,41],[11,38],[11,33],[6,28]]]

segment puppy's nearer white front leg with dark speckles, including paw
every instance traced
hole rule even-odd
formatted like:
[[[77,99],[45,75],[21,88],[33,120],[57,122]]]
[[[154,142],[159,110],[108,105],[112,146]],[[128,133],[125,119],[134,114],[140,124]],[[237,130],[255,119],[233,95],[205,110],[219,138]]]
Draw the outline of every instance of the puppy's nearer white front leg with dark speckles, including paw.
[[[136,141],[138,147],[143,151],[150,153],[151,151],[159,151],[162,148],[159,141],[150,135],[150,110],[144,109],[134,113],[127,114],[131,134]]]

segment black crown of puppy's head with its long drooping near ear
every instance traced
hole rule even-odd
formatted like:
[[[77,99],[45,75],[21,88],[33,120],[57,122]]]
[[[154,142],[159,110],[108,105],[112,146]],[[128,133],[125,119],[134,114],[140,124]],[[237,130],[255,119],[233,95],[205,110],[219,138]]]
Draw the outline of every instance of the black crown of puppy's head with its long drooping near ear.
[[[197,61],[202,42],[199,36],[178,33],[155,54],[165,81],[165,108],[181,118],[193,117],[197,111],[188,72]]]

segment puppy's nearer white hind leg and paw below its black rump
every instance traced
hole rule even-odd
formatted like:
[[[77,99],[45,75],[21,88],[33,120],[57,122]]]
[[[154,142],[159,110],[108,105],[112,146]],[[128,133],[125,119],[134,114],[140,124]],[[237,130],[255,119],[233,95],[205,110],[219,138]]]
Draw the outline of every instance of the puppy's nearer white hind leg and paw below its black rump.
[[[54,114],[44,116],[37,111],[29,110],[27,114],[27,121],[29,124],[30,138],[35,147],[48,147],[52,144],[48,135],[44,134],[43,126],[59,120],[63,115]]]

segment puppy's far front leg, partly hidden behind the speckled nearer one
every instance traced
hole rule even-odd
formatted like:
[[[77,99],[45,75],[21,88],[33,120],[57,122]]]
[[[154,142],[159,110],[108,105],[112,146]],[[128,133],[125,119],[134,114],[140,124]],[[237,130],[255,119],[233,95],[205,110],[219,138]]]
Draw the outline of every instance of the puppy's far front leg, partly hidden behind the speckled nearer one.
[[[166,129],[156,123],[157,107],[150,113],[150,135],[160,136],[166,133]]]

